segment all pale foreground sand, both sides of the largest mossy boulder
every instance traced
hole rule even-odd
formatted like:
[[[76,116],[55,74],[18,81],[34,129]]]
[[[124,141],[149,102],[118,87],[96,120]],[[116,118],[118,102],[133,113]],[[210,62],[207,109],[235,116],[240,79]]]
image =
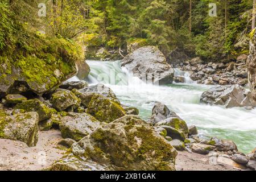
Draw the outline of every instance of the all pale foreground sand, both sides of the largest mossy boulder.
[[[0,170],[35,171],[50,166],[65,153],[57,143],[61,140],[60,131],[40,131],[36,147],[27,147],[23,142],[0,139]],[[178,171],[232,171],[237,170],[226,164],[210,164],[209,156],[187,151],[178,152]]]

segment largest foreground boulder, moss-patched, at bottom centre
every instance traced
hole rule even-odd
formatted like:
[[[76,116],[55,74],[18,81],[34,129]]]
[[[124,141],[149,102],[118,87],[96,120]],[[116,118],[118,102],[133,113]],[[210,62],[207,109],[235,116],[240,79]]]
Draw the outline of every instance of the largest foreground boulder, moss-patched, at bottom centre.
[[[104,124],[72,153],[114,170],[175,170],[177,152],[152,127],[135,115]]]

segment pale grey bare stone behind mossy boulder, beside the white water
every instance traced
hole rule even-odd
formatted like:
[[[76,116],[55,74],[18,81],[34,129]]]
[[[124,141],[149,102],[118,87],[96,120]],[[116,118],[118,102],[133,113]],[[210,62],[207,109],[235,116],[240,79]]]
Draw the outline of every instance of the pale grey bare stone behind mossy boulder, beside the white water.
[[[113,90],[103,84],[87,86],[86,88],[79,90],[79,92],[90,94],[90,96],[92,96],[92,93],[101,94],[102,96],[120,104],[120,101],[118,100],[117,96],[115,96]]]

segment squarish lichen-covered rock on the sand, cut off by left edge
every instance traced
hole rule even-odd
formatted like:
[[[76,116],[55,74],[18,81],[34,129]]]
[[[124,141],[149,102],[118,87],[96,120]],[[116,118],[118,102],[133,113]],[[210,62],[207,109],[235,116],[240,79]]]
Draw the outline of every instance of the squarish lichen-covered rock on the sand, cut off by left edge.
[[[38,142],[38,113],[30,112],[0,118],[0,138],[20,140],[29,147]]]

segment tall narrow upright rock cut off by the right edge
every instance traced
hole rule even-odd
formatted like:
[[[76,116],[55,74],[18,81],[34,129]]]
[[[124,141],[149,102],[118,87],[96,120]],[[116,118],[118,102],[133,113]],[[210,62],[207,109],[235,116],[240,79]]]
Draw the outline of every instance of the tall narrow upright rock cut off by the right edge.
[[[247,58],[248,77],[251,93],[253,94],[254,100],[256,100],[256,35],[255,30],[254,36],[250,41],[250,55]]]

